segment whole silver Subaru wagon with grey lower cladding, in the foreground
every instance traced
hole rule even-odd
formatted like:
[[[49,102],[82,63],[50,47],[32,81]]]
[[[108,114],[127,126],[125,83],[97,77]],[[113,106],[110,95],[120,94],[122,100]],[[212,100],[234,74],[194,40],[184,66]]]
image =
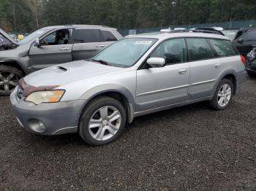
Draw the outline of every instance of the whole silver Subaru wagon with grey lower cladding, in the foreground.
[[[217,34],[127,36],[94,58],[29,74],[10,100],[26,130],[79,133],[99,146],[143,114],[198,101],[226,109],[246,80],[245,64],[227,37]]]

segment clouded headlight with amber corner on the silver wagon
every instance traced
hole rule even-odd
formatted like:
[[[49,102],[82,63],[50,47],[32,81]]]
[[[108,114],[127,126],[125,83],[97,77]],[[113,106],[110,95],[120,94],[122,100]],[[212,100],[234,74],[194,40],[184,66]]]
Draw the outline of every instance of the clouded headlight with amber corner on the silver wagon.
[[[25,101],[30,101],[36,105],[42,103],[56,103],[59,102],[64,95],[64,90],[50,90],[50,91],[39,91],[31,93]]]

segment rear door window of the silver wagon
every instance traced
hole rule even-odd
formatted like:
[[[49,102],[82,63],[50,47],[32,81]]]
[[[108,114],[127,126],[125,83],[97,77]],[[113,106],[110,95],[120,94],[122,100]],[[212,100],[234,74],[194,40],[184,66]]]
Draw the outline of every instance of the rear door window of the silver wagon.
[[[214,58],[214,53],[211,51],[211,47],[206,42],[206,39],[187,38],[187,45],[189,50],[189,61]]]

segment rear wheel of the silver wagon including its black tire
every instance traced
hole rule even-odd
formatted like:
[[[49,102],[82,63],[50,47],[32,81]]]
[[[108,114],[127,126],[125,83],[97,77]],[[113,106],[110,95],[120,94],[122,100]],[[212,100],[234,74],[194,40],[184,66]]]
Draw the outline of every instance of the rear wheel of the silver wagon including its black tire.
[[[230,88],[230,90],[228,90],[228,91],[224,90],[225,89],[224,85],[227,85],[228,89]],[[219,94],[221,96],[219,96]],[[229,95],[230,95],[230,97],[229,97]],[[230,79],[222,79],[222,81],[219,82],[217,90],[214,94],[214,98],[212,98],[212,100],[210,102],[211,107],[215,110],[226,109],[227,106],[230,105],[230,102],[232,101],[233,95],[234,95],[233,82],[231,82]],[[222,98],[222,100],[221,100],[221,98]],[[228,101],[227,101],[227,99],[228,99]],[[222,103],[222,104],[219,104],[219,103]]]

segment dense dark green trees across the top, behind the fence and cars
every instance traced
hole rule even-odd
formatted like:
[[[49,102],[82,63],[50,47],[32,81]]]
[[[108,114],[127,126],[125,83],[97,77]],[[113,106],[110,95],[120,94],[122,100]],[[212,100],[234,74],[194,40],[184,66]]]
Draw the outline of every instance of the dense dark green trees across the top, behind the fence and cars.
[[[1,0],[0,28],[94,24],[151,28],[256,19],[255,0]]]

